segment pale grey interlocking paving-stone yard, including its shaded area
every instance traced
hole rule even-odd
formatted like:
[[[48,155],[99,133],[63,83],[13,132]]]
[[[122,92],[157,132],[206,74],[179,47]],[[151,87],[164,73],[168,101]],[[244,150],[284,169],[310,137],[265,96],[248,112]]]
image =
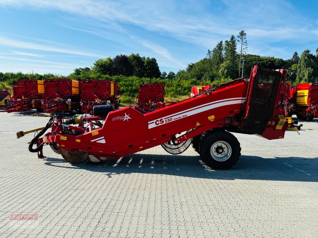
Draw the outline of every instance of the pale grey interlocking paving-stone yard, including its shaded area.
[[[207,169],[189,148],[71,165],[27,149],[47,117],[0,112],[0,237],[318,237],[318,119],[268,141],[235,134],[229,170]],[[11,221],[37,214],[37,221]]]

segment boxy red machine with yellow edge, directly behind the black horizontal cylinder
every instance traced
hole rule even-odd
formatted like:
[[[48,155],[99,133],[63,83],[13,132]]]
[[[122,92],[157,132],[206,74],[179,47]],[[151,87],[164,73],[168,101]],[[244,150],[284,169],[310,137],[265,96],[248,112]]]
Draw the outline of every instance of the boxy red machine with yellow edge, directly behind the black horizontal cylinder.
[[[81,102],[83,113],[93,114],[93,107],[112,104],[114,109],[119,108],[120,90],[118,83],[110,80],[84,79],[80,83]]]

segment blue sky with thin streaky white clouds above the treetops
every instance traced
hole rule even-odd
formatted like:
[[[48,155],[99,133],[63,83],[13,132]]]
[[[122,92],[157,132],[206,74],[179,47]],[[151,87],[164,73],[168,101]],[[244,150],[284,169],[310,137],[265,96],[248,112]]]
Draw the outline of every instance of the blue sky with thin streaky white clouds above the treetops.
[[[315,53],[318,0],[0,0],[0,71],[68,75],[139,53],[177,72],[240,30],[250,54]]]

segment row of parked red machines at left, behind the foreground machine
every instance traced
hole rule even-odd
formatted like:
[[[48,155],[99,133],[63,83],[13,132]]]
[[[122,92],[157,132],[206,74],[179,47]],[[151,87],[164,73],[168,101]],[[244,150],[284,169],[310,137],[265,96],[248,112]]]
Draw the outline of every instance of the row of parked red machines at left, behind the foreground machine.
[[[12,85],[13,96],[0,91],[0,109],[10,112],[73,112],[92,113],[98,105],[113,105],[118,109],[120,89],[110,80],[76,81],[68,78],[20,79]]]

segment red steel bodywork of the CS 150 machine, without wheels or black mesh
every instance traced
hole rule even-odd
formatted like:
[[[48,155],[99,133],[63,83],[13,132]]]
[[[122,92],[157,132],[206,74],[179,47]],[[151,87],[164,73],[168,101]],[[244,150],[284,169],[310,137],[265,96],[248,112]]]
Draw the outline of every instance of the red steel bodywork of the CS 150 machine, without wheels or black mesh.
[[[64,134],[62,119],[55,119],[52,132],[40,138],[38,144],[42,141],[47,144],[54,142],[69,152],[86,151],[91,161],[99,162],[149,149],[191,129],[174,142],[181,143],[213,128],[226,128],[230,126],[227,118],[248,115],[249,107],[246,105],[251,99],[251,85],[254,83],[256,71],[257,66],[254,66],[249,80],[237,79],[221,84],[215,91],[208,91],[149,113],[134,106],[109,112],[104,118],[83,118],[83,121],[105,119],[105,123],[98,129],[92,130],[90,127],[89,131],[80,135]],[[276,109],[280,103],[279,92],[280,90],[277,92],[273,116],[266,129],[260,133],[260,136],[267,139],[283,138],[287,130],[287,120],[283,120],[281,128],[277,129],[277,119],[282,116],[280,109]],[[239,128],[242,127],[243,122],[239,124]]]

